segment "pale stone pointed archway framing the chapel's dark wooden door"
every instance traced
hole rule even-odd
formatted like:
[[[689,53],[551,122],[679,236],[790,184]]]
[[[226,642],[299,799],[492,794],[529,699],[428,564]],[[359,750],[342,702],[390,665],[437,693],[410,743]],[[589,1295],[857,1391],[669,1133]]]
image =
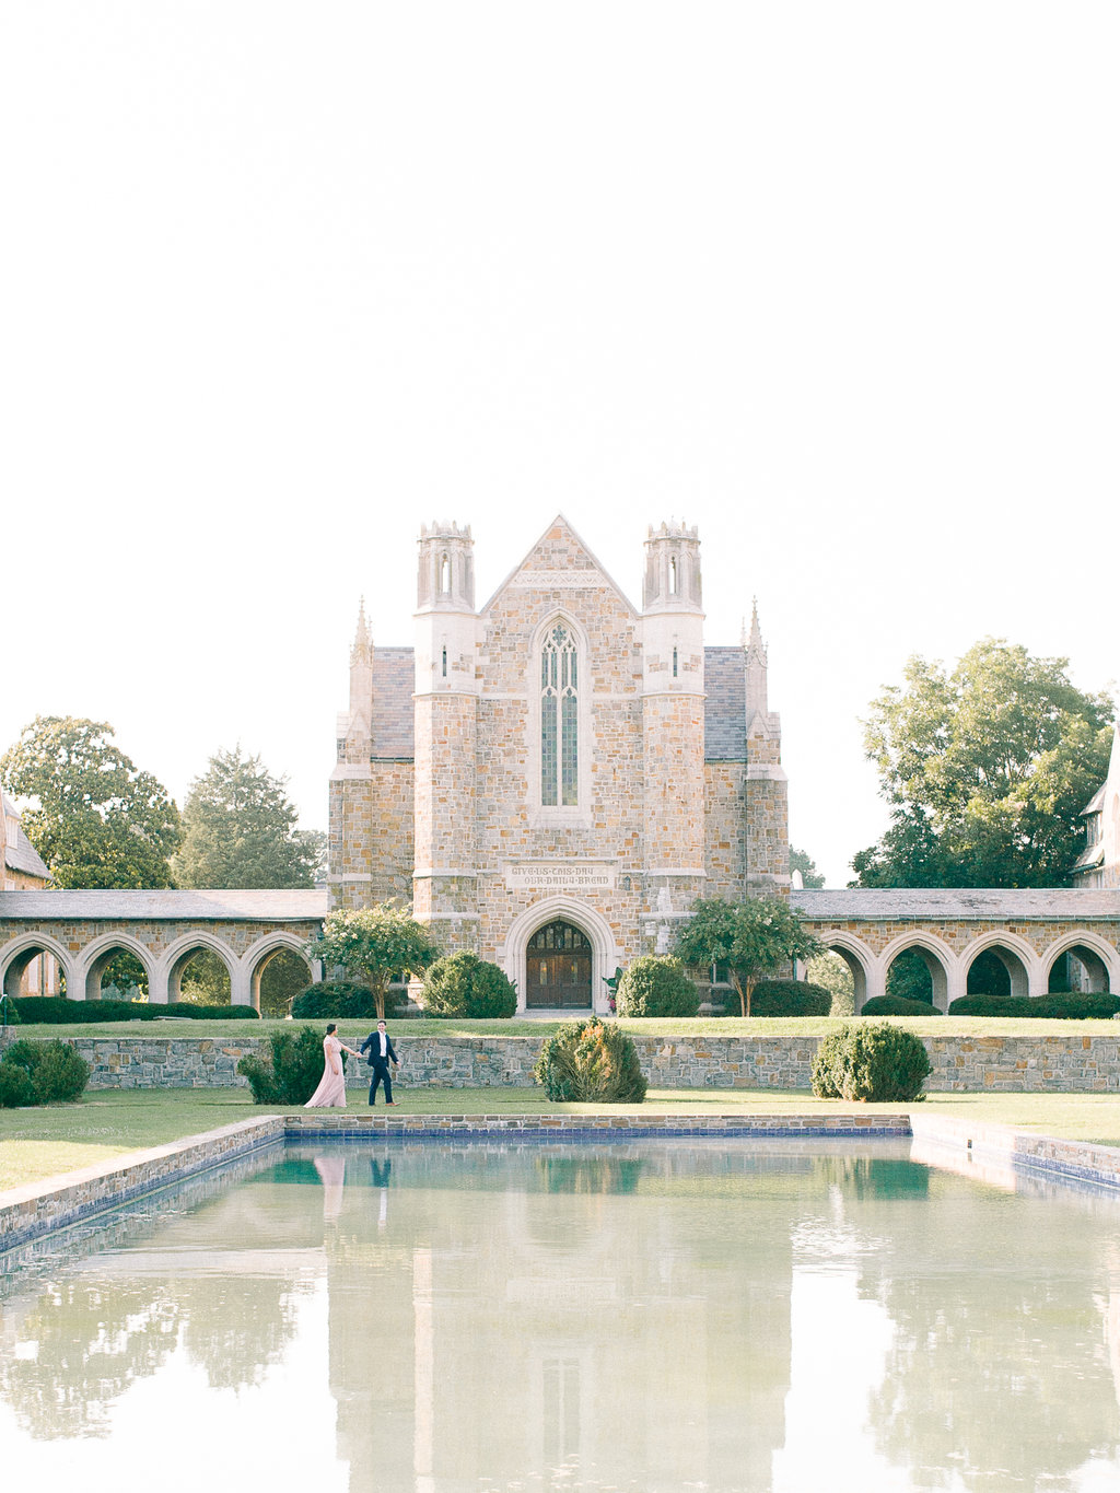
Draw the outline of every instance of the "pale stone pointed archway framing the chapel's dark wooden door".
[[[536,942],[541,948],[535,947]],[[538,960],[532,982],[530,947]],[[548,996],[550,1002],[557,991],[566,991],[567,999],[548,1006],[542,999],[538,1009],[608,1011],[605,981],[614,975],[621,959],[611,924],[600,912],[575,897],[545,897],[511,923],[505,947],[499,950],[499,961],[517,985],[518,1011],[532,1009],[527,1000],[530,988],[535,994],[541,991],[542,957],[545,961],[551,960],[544,981],[545,990],[553,993]],[[567,967],[563,967],[564,957]],[[575,972],[570,969],[572,963],[576,966]],[[576,996],[582,996],[579,1005]]]

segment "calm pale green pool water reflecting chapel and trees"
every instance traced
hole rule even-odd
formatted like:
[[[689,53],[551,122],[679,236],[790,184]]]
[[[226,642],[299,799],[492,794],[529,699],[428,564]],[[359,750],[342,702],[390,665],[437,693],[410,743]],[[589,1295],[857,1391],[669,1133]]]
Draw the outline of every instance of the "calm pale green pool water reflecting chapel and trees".
[[[1120,1203],[906,1144],[290,1151],[0,1278],[10,1489],[1120,1489]]]

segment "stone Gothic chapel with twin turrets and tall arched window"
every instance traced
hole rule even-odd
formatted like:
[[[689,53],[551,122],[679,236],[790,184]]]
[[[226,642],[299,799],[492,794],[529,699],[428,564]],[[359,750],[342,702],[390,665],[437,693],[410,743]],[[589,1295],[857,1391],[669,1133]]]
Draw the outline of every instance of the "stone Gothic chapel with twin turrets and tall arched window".
[[[606,1009],[699,896],[788,887],[757,611],[706,646],[700,542],[645,540],[636,608],[561,515],[481,608],[470,527],[421,529],[415,643],[358,612],[330,779],[330,905],[411,900],[527,1008]]]

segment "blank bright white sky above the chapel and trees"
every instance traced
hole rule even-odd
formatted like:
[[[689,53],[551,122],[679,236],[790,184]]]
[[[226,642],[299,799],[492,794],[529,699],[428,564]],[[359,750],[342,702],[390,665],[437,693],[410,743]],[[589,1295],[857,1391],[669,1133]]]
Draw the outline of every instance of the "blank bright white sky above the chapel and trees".
[[[1116,678],[1120,6],[0,0],[0,744],[218,746],[326,827],[361,593],[557,509],[757,593],[791,833],[993,633]]]

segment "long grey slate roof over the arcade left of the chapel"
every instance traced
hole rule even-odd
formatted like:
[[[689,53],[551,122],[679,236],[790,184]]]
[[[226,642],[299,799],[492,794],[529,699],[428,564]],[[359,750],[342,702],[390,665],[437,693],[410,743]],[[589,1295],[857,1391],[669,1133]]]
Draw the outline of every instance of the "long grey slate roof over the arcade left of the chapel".
[[[327,891],[0,891],[3,918],[187,918],[305,923],[327,915]]]

